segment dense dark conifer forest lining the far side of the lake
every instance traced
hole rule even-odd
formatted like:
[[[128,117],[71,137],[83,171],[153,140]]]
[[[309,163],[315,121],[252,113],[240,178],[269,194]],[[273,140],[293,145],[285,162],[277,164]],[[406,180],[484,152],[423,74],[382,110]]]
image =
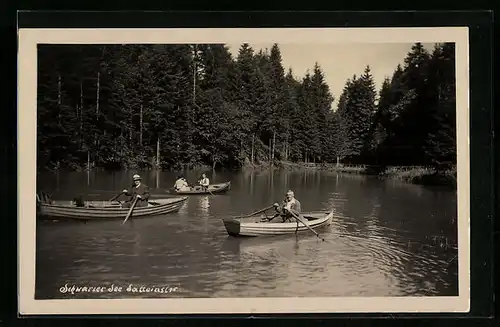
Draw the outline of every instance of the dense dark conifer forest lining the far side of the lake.
[[[414,44],[380,90],[353,72],[336,106],[277,44],[40,45],[38,72],[39,168],[456,162],[453,43]]]

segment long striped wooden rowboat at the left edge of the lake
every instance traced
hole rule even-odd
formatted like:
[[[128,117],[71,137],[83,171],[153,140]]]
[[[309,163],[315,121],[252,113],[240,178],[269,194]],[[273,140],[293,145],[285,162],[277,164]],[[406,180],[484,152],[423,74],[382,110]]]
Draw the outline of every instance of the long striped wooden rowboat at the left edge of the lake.
[[[178,197],[149,201],[147,207],[135,207],[133,218],[145,218],[176,212],[186,200],[187,197]],[[122,207],[122,203],[117,201],[84,201],[84,205],[81,207],[77,207],[72,201],[39,203],[39,214],[42,219],[124,219],[128,211],[129,208]]]

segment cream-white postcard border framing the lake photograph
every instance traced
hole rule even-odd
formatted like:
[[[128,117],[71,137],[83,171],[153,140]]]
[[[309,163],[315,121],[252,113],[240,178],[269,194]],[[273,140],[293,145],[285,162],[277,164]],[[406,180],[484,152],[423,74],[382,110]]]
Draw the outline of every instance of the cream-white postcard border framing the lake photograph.
[[[467,27],[19,29],[18,301],[21,315],[468,312],[470,307]],[[455,297],[35,300],[37,44],[456,43],[458,267]]]

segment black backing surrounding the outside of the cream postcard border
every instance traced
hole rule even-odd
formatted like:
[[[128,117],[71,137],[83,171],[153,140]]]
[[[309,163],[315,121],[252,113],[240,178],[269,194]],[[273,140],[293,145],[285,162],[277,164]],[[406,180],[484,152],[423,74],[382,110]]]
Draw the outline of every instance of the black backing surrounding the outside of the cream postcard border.
[[[469,67],[470,67],[470,262],[471,262],[471,310],[469,313],[422,313],[422,314],[269,314],[258,317],[301,318],[485,318],[493,315],[493,217],[495,207],[494,191],[497,182],[494,179],[493,151],[493,75],[492,75],[492,12],[488,11],[441,11],[441,12],[37,12],[18,13],[18,28],[193,28],[193,27],[469,27]],[[17,74],[17,72],[15,72]],[[14,75],[15,76],[15,75]],[[17,92],[16,92],[17,93]],[[13,101],[7,103],[5,109],[13,114],[17,110],[16,93],[11,94]],[[16,117],[16,116],[14,116]],[[14,194],[17,179],[21,174],[17,171],[17,136],[16,123],[3,120],[4,132],[7,131],[7,147],[4,158],[9,158],[3,171],[8,172],[8,189],[4,194]],[[10,158],[13,160],[11,161]],[[18,199],[21,201],[22,199]],[[16,203],[10,197],[4,197],[2,214],[2,248],[17,248]],[[29,318],[44,320],[48,326],[74,323],[53,320],[54,316],[17,315],[17,253],[4,253],[3,257],[5,286],[4,305],[0,318],[7,325]],[[58,316],[68,317],[68,316]],[[77,316],[82,317],[82,316]],[[116,318],[118,315],[92,315],[94,319]],[[128,316],[136,319],[143,315]],[[163,319],[171,318],[248,318],[248,315],[168,315],[154,316]],[[45,321],[47,320],[47,321]],[[79,320],[79,319],[78,319]],[[78,321],[77,320],[77,321]],[[76,322],[76,321],[75,321]],[[278,321],[275,321],[278,323]],[[281,321],[280,322],[285,322]],[[307,323],[312,323],[308,321]],[[96,324],[97,321],[89,323]],[[197,320],[193,321],[197,323]],[[109,320],[106,324],[123,324],[120,320]],[[157,325],[158,321],[141,321],[141,324]]]

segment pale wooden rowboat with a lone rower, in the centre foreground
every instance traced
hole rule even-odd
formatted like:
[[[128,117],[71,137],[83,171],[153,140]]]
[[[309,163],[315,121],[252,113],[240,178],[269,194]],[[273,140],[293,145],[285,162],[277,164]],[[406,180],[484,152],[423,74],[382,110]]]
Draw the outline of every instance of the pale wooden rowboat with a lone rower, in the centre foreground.
[[[302,213],[301,218],[314,230],[329,225],[332,222],[333,211]],[[234,237],[273,236],[295,234],[296,232],[304,231],[309,232],[309,229],[301,222],[275,223],[262,222],[261,219],[262,217],[260,216],[243,219],[229,218],[223,219],[223,222],[227,233]]]

